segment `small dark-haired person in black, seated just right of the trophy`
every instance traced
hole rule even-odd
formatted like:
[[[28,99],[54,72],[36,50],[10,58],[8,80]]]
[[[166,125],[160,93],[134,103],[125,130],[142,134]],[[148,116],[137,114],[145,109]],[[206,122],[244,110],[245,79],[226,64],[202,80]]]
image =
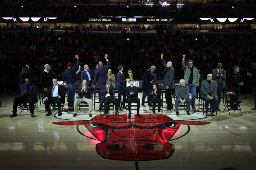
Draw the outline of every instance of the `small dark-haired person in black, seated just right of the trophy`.
[[[157,83],[154,83],[153,90],[151,90],[150,101],[152,101],[152,103],[153,103],[153,108],[152,108],[153,113],[155,113],[156,103],[158,105],[157,110],[158,110],[158,112],[160,112],[161,103],[162,103],[161,90],[157,89],[158,86],[159,85]]]

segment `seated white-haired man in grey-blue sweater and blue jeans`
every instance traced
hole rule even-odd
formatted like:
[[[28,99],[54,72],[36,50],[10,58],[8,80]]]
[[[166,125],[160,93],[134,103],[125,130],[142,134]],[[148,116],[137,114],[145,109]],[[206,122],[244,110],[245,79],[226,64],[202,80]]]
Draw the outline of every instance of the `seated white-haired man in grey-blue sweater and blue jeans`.
[[[190,106],[192,103],[192,100],[189,98],[189,92],[188,92],[188,87],[185,86],[185,80],[181,79],[180,80],[180,85],[175,87],[175,95],[176,95],[176,101],[175,101],[175,111],[176,111],[176,116],[179,116],[179,103],[187,103],[187,108],[186,112],[188,115],[190,111]]]

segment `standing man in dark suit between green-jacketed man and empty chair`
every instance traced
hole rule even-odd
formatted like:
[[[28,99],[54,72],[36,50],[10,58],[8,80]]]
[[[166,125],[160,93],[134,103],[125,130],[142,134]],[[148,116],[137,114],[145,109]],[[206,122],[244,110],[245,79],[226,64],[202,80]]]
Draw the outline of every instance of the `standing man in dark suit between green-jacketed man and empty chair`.
[[[226,80],[226,70],[221,69],[222,65],[219,62],[217,64],[217,69],[212,70],[213,80],[217,81],[217,97],[218,97],[218,104],[217,104],[217,110],[220,111],[220,99],[221,99],[221,93],[222,89],[226,87],[225,80]]]

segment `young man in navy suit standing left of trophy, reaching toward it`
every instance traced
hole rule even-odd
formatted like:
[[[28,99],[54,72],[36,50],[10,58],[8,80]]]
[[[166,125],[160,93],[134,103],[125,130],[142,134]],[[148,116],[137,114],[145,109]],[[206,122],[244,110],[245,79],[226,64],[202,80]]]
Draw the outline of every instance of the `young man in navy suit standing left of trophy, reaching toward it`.
[[[125,89],[126,89],[126,83],[127,81],[129,81],[130,79],[125,79],[124,77],[124,67],[123,66],[118,66],[117,69],[119,70],[119,72],[117,73],[117,91],[118,91],[118,109],[120,111],[122,111],[123,109],[125,109],[125,99],[126,99],[126,93],[125,93]],[[121,98],[123,95],[123,109],[121,108]]]

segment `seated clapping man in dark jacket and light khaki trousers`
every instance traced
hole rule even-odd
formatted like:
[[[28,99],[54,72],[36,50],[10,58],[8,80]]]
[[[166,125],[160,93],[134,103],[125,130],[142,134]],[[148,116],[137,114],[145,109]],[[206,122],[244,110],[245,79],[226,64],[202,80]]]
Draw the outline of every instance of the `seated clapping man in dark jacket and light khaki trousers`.
[[[89,104],[89,116],[92,117],[92,87],[86,86],[87,81],[83,80],[83,85],[81,87],[78,87],[78,98],[74,102],[74,109],[75,113],[73,114],[73,117],[77,115],[78,110],[78,104],[82,101],[85,101]]]

